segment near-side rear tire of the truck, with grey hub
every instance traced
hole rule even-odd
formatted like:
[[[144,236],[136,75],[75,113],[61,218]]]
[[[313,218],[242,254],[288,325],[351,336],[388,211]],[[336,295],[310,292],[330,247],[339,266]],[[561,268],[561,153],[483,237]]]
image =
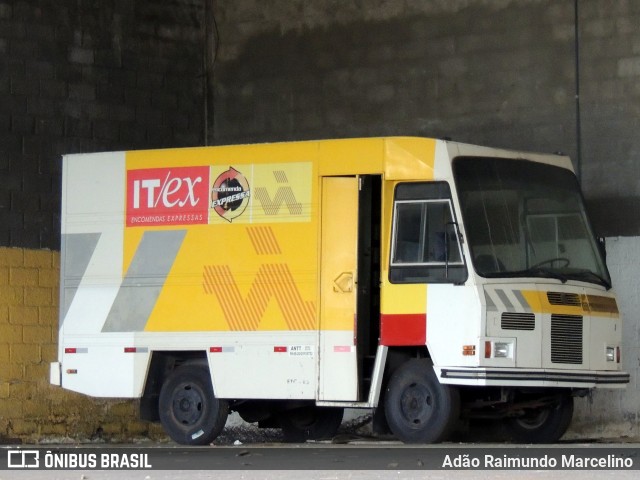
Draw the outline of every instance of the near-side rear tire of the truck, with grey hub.
[[[160,422],[182,445],[208,445],[222,431],[229,405],[215,398],[209,369],[184,365],[175,369],[160,390]]]

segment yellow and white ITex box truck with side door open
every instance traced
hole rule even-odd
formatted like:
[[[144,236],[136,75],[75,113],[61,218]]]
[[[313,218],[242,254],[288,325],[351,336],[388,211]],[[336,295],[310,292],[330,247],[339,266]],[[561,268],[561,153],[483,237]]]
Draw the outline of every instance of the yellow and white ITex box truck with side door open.
[[[65,156],[51,382],[140,399],[182,444],[229,412],[404,442],[495,418],[560,438],[623,388],[622,325],[570,159],[427,138]]]

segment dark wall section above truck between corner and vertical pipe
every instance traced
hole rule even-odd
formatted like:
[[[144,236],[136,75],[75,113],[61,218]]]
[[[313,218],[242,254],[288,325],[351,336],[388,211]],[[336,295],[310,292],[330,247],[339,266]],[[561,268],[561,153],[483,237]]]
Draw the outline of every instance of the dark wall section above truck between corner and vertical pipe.
[[[575,153],[573,1],[219,2],[216,138]]]

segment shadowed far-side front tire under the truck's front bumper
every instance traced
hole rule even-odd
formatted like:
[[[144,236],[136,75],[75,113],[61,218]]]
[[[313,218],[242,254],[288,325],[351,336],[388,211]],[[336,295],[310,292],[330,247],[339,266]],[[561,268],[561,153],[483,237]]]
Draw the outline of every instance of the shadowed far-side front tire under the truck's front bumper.
[[[505,421],[509,440],[518,443],[554,443],[567,431],[573,418],[573,397],[563,395],[558,403],[525,411]]]

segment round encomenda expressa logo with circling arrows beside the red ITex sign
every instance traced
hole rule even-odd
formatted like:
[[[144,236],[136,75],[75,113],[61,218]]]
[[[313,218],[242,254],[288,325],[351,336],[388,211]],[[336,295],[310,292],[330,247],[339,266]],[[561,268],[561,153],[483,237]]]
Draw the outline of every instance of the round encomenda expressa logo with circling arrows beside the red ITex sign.
[[[228,222],[244,213],[251,191],[246,177],[233,167],[222,172],[211,187],[211,208]]]

